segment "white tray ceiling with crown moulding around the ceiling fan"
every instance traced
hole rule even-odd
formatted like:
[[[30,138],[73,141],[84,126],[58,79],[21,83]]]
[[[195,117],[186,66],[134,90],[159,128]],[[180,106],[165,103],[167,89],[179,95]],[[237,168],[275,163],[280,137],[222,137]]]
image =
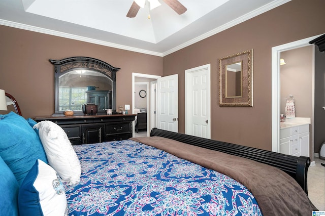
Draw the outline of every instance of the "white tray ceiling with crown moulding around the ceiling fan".
[[[0,24],[164,56],[289,0],[179,0],[178,15],[164,1],[135,18],[133,0],[0,0]]]

